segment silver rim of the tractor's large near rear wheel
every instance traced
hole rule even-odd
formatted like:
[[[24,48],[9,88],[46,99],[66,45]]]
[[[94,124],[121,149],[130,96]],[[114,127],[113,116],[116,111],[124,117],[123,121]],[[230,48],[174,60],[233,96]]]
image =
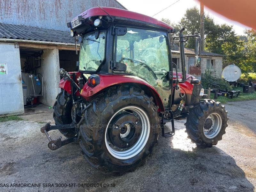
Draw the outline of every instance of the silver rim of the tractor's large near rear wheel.
[[[132,114],[135,114],[137,116],[137,118],[139,119],[138,126],[140,126],[140,135],[139,135],[138,139],[136,140],[136,142],[132,146],[129,146],[128,148],[120,149],[115,144],[113,144],[113,142],[110,140],[109,129],[111,129],[111,127],[109,127],[109,125],[110,125],[112,119],[116,115],[118,115],[122,111],[126,111],[126,110],[128,110],[129,112],[132,112]],[[137,124],[137,122],[135,122],[135,123]],[[127,126],[126,122],[125,122],[125,125]],[[119,134],[116,136],[119,136],[121,139],[125,139],[125,137],[126,137],[125,134],[128,135],[128,133],[131,133],[131,132],[132,132],[131,127],[127,126],[127,131],[124,134]],[[143,148],[145,147],[145,145],[148,142],[149,134],[150,134],[150,122],[149,122],[149,118],[148,118],[148,115],[146,114],[146,112],[140,107],[128,106],[128,107],[121,108],[110,118],[107,128],[106,128],[106,131],[105,131],[105,145],[106,145],[106,148],[108,149],[108,152],[115,158],[129,159],[129,158],[132,158],[132,157],[138,155],[143,150]]]

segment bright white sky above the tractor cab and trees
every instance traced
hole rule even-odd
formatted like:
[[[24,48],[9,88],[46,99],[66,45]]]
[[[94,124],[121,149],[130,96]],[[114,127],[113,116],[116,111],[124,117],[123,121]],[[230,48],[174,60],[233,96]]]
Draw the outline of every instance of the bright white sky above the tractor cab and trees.
[[[126,9],[148,16],[153,16],[176,1],[177,0],[118,0],[118,2],[124,5]],[[178,23],[185,14],[186,9],[194,6],[197,6],[197,8],[200,9],[200,3],[196,0],[179,0],[169,8],[155,15],[154,18],[158,20],[166,18],[173,23]],[[244,35],[244,29],[249,28],[236,21],[229,20],[207,7],[204,7],[204,12],[205,14],[209,14],[217,24],[226,23],[228,25],[233,25],[237,35]]]

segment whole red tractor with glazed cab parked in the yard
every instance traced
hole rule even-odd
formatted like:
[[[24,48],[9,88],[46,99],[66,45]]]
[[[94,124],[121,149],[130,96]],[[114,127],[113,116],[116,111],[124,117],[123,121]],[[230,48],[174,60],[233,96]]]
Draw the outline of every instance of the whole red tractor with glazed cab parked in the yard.
[[[203,100],[200,81],[186,74],[184,42],[196,37],[195,66],[200,66],[200,37],[179,36],[182,73],[172,62],[168,34],[175,29],[152,17],[122,9],[95,7],[67,23],[81,39],[79,71],[60,69],[61,92],[54,103],[56,125],[41,128],[48,147],[77,142],[85,159],[102,172],[123,173],[144,164],[162,136],[174,135],[174,119],[187,119],[192,142],[205,148],[222,139],[224,105]],[[164,124],[172,123],[172,132]],[[66,140],[52,140],[58,129]]]

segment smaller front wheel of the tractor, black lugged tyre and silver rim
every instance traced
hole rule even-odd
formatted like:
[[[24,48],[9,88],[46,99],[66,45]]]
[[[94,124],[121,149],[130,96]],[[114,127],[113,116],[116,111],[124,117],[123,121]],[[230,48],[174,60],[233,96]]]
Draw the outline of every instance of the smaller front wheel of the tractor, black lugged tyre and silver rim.
[[[228,111],[220,102],[204,100],[190,108],[186,132],[188,138],[201,148],[217,145],[228,126]]]

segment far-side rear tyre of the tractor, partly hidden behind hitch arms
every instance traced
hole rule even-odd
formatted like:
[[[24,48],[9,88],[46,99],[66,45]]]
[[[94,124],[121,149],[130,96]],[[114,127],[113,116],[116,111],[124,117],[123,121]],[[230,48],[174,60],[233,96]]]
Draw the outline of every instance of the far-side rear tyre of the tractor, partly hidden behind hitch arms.
[[[53,105],[53,119],[56,125],[70,124],[72,123],[71,110],[72,110],[72,98],[63,89],[57,95],[56,101]],[[59,130],[65,137],[71,138],[76,135],[75,129],[62,129]]]

